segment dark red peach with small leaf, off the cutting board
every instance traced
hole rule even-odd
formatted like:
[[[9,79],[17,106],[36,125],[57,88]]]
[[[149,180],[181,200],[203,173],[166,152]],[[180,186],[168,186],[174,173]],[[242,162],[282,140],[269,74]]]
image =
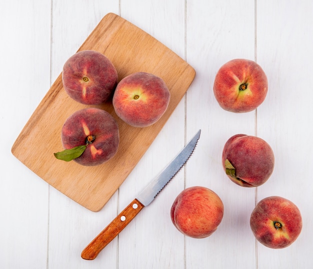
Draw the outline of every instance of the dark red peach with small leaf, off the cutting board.
[[[229,179],[242,187],[263,184],[274,169],[274,154],[263,139],[236,134],[223,148],[222,165]]]

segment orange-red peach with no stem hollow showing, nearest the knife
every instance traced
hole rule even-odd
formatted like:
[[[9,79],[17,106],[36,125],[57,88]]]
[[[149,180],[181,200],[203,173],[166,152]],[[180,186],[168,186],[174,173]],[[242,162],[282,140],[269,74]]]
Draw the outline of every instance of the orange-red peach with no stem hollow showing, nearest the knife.
[[[224,205],[218,195],[202,186],[181,191],[170,208],[174,226],[193,238],[211,235],[221,222],[223,213]]]

